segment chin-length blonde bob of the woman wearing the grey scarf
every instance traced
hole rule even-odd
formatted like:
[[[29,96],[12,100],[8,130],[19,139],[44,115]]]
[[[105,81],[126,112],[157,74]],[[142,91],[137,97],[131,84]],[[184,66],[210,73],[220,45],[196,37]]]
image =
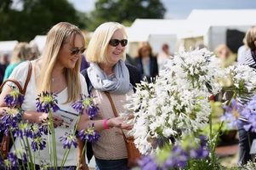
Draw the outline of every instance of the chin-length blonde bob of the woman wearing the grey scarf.
[[[105,22],[95,31],[86,50],[86,59],[94,63],[107,63],[107,48],[114,32],[120,30],[127,38],[125,27],[117,22]],[[125,60],[123,53],[122,59]]]

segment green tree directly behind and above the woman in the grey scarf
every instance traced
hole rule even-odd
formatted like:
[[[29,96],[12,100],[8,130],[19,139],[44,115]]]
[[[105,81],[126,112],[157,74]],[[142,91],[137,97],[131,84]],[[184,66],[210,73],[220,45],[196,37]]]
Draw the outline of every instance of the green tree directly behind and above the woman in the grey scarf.
[[[166,12],[160,0],[97,0],[88,17],[88,30],[94,31],[105,21],[117,21],[126,26],[135,19],[162,19]]]

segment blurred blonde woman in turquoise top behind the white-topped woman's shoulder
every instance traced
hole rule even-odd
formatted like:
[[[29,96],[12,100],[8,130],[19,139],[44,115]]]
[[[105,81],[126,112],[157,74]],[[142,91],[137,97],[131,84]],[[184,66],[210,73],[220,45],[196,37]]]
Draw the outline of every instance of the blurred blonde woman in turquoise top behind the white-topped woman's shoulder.
[[[20,65],[21,62],[25,60],[30,60],[32,56],[32,49],[27,42],[20,42],[14,47],[14,51],[11,55],[10,64],[7,66],[3,81],[8,79],[14,68]]]

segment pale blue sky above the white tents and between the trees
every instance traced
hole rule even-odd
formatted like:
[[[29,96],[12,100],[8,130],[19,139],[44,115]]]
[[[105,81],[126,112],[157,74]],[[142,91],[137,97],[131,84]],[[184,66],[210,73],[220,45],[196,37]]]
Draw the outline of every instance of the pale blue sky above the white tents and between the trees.
[[[68,0],[77,10],[90,12],[96,0]],[[131,0],[132,1],[132,0]],[[192,9],[256,9],[256,0],[161,0],[167,12],[166,19],[186,19]],[[253,16],[252,16],[253,17]]]

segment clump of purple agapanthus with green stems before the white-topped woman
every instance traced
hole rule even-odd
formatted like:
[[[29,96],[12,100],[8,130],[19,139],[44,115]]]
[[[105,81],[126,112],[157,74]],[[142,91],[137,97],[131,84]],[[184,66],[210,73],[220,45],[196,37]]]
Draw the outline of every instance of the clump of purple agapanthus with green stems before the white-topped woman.
[[[58,106],[58,101],[55,94],[48,92],[43,92],[38,95],[37,98],[37,111],[45,112],[48,114],[48,118],[42,123],[29,123],[22,120],[22,115],[24,111],[21,109],[24,96],[19,93],[16,89],[10,92],[5,98],[4,101],[8,108],[4,111],[4,116],[0,119],[0,131],[11,134],[11,139],[19,138],[23,145],[23,151],[16,150],[14,146],[14,151],[9,152],[7,159],[3,160],[3,157],[0,159],[1,168],[3,169],[35,169],[32,156],[38,153],[40,156],[40,150],[44,150],[48,144],[53,150],[49,151],[49,156],[53,158],[53,164],[48,164],[44,160],[42,164],[39,165],[43,169],[51,169],[57,167],[57,150],[55,146],[55,137],[54,137],[54,119],[53,112],[60,110]],[[82,116],[83,111],[85,111],[91,118],[93,118],[99,108],[94,105],[93,99],[89,96],[81,95],[82,98],[80,101],[72,104],[74,109],[81,113],[78,114],[77,122]],[[76,123],[77,124],[77,123]],[[83,129],[81,132],[76,134],[77,125],[70,133],[65,133],[64,136],[60,137],[60,142],[63,144],[65,149],[65,156],[62,159],[61,167],[64,166],[65,160],[69,154],[71,147],[77,147],[77,137],[81,138],[83,141],[95,142],[100,138],[98,132],[94,131],[93,127],[88,127],[88,129]],[[49,135],[51,138],[49,138]],[[28,140],[30,139],[30,140]],[[29,141],[31,143],[29,143]],[[29,147],[31,146],[31,147]],[[32,151],[34,153],[32,154]],[[18,156],[21,157],[20,161]],[[20,162],[22,161],[22,165]],[[28,163],[27,163],[28,162]],[[27,163],[27,164],[26,164]],[[26,164],[26,165],[25,165]],[[25,167],[26,166],[26,167]]]

